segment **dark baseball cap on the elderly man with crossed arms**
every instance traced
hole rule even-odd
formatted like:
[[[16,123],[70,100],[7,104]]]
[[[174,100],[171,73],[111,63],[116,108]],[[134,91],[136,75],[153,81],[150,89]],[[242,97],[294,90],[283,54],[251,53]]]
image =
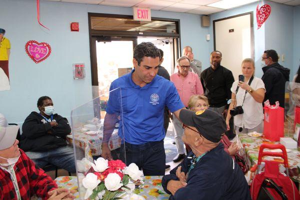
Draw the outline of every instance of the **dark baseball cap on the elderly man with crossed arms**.
[[[181,109],[179,119],[183,124],[195,127],[203,137],[211,142],[219,142],[227,130],[222,115],[212,110],[193,112]]]

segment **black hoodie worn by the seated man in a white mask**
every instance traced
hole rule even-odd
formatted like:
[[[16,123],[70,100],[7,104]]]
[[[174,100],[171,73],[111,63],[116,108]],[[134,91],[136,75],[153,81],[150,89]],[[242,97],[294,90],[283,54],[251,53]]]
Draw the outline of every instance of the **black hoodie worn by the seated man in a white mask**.
[[[50,116],[47,117],[51,119]],[[22,125],[20,148],[24,151],[47,151],[65,146],[65,136],[71,132],[66,118],[53,114],[52,121],[58,126],[51,127],[39,113],[31,112]]]

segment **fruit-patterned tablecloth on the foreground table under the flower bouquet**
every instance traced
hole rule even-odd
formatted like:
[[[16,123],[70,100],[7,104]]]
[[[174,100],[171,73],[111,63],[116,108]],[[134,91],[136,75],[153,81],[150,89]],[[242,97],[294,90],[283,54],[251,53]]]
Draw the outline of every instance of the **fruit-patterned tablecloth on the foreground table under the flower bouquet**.
[[[159,199],[164,200],[169,198],[169,194],[167,194],[162,186],[161,186],[161,178],[162,176],[144,176],[144,184],[140,189],[135,189],[133,192],[142,195],[145,199]],[[73,189],[76,191],[74,195],[76,199],[79,199],[78,193],[78,184],[76,176],[59,176],[55,178],[55,181],[58,187]]]

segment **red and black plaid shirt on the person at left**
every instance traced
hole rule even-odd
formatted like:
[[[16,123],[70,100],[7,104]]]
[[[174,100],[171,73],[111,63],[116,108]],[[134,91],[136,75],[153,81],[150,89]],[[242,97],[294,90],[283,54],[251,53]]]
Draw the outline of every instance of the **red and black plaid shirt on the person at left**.
[[[57,184],[41,168],[20,149],[21,155],[13,169],[17,179],[22,200],[29,200],[30,196],[47,199],[47,192],[57,188]],[[17,199],[10,174],[0,168],[0,199]]]

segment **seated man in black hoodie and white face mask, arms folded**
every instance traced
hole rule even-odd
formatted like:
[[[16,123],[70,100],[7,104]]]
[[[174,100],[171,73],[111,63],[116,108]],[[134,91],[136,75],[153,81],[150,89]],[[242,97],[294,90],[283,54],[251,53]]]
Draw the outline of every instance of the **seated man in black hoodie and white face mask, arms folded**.
[[[73,148],[65,141],[71,132],[67,119],[53,114],[50,97],[40,97],[37,108],[39,113],[31,112],[22,125],[20,148],[41,168],[52,164],[76,172]]]

